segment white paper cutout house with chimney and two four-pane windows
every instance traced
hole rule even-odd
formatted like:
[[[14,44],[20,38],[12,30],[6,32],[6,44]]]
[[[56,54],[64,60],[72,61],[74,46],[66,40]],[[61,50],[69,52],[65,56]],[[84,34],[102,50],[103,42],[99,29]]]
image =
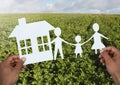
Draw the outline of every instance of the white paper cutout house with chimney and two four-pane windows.
[[[26,57],[25,64],[53,60],[50,31],[55,28],[46,21],[26,23],[18,19],[9,38],[16,37],[20,57]]]

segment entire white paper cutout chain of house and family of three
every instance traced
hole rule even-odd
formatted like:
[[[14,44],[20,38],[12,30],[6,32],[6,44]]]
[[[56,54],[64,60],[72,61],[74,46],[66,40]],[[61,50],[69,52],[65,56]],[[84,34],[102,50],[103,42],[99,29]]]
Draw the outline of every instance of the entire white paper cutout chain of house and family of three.
[[[75,37],[76,44],[71,44],[60,38],[60,28],[54,28],[47,21],[27,24],[25,18],[20,18],[18,19],[18,22],[19,24],[14,28],[9,38],[16,37],[19,55],[20,57],[26,57],[25,64],[56,60],[58,51],[60,52],[61,58],[64,59],[62,42],[75,46],[75,54],[77,58],[78,54],[82,57],[83,50],[81,46],[93,38],[94,44],[91,49],[95,50],[95,54],[97,54],[98,49],[101,50],[105,47],[101,41],[101,37],[108,39],[98,32],[99,25],[97,23],[93,24],[93,30],[95,33],[86,42],[80,43],[81,36],[77,35]],[[56,35],[56,38],[53,41],[50,39],[49,32],[51,30],[54,30],[54,34]],[[54,57],[52,54],[52,43],[55,43]]]

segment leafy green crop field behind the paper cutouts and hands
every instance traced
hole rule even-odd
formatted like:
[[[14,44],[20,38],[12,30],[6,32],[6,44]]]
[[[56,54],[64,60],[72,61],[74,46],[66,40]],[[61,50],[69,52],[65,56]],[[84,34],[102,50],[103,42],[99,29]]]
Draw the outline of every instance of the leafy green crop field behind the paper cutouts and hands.
[[[80,35],[84,42],[94,31],[92,25],[100,25],[99,32],[109,39],[102,39],[106,46],[120,49],[120,15],[103,14],[0,14],[0,61],[10,54],[18,54],[16,39],[8,36],[18,24],[18,18],[25,17],[27,23],[46,20],[62,30],[61,38],[75,42]],[[51,40],[55,38],[51,31]],[[98,55],[91,50],[93,40],[82,46],[83,57],[75,58],[74,46],[63,44],[64,60],[58,54],[56,61],[27,65],[20,73],[16,85],[114,85],[111,76],[99,62]],[[54,47],[54,45],[53,45]]]

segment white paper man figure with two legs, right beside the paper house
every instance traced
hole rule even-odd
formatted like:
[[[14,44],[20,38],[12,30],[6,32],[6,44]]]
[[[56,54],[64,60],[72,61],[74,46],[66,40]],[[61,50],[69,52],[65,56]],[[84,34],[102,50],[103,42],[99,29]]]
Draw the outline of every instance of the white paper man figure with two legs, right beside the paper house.
[[[51,43],[55,43],[55,51],[54,51],[54,60],[56,60],[57,57],[57,53],[58,50],[60,52],[61,58],[64,59],[63,56],[63,51],[62,51],[62,42],[68,44],[67,41],[63,40],[62,38],[60,38],[61,35],[61,29],[60,28],[56,28],[54,30],[55,35],[57,36]]]

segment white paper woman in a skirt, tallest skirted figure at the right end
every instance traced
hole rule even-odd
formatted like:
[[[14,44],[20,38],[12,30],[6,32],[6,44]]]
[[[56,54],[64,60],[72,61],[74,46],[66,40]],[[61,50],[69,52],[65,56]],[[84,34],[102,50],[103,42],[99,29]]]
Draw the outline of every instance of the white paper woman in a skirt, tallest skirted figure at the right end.
[[[94,39],[94,44],[92,45],[91,49],[95,50],[95,54],[97,54],[98,49],[102,50],[102,48],[105,48],[105,45],[101,41],[101,37],[105,39],[108,39],[108,38],[98,32],[99,25],[97,23],[93,24],[93,30],[95,31],[95,33],[86,42],[90,41],[92,38]]]

